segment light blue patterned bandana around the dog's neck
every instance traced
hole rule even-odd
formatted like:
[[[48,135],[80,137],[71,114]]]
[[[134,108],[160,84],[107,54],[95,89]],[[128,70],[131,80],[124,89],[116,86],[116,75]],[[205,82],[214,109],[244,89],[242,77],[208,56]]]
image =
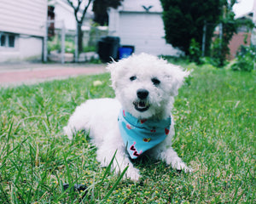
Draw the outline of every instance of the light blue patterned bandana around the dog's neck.
[[[146,150],[166,139],[171,116],[165,120],[137,119],[125,110],[119,112],[119,130],[131,159],[137,159]]]

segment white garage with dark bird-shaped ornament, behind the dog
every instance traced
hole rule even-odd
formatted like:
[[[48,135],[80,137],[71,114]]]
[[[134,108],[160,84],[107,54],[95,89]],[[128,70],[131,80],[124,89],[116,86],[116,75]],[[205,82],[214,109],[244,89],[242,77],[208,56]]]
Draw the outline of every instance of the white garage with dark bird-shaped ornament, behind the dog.
[[[135,53],[179,55],[166,43],[160,0],[125,0],[109,11],[109,35],[120,37],[121,45],[135,46]]]

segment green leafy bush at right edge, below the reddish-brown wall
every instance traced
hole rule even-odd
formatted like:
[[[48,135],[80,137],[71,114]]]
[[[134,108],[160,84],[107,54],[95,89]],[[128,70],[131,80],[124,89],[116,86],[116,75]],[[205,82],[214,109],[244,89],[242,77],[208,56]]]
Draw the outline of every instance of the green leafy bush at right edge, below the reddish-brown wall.
[[[236,63],[231,65],[233,71],[253,71],[256,62],[256,48],[241,46],[236,54]]]

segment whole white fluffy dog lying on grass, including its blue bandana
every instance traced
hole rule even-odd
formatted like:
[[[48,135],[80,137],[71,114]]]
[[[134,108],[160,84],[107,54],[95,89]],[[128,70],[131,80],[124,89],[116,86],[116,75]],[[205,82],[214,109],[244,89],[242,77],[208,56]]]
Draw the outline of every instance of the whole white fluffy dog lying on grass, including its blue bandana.
[[[191,171],[172,149],[174,96],[189,71],[150,54],[132,55],[109,64],[116,99],[90,99],[76,108],[64,131],[69,139],[79,130],[90,133],[96,159],[108,166],[114,153],[113,171],[137,181],[133,167],[144,151],[177,170]]]

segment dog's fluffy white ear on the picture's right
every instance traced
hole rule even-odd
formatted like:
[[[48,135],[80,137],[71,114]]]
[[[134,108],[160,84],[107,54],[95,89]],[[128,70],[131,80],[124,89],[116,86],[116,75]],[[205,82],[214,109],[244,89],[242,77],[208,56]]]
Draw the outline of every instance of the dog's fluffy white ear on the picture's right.
[[[170,94],[176,96],[178,94],[178,88],[183,85],[185,77],[189,77],[190,71],[183,71],[183,68],[177,65],[169,65],[169,69],[166,73],[168,81],[171,83]]]

